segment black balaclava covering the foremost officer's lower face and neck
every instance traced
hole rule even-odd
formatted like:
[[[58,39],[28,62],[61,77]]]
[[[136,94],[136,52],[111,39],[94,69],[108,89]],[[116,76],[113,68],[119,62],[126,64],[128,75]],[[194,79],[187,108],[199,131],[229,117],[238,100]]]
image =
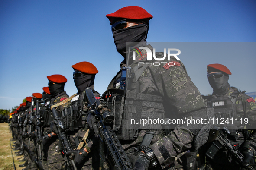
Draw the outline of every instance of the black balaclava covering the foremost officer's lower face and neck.
[[[149,26],[146,24],[134,25],[113,32],[117,52],[126,58],[126,42],[146,42]]]

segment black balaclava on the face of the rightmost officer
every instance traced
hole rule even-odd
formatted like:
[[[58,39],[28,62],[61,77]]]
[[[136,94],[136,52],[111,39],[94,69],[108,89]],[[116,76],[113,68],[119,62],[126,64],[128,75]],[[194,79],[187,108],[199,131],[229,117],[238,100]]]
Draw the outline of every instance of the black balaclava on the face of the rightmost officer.
[[[213,76],[211,76],[208,79],[209,84],[214,90],[214,94],[217,94],[220,96],[226,94],[228,88],[230,88],[230,85],[227,82],[228,79],[229,79],[229,76],[225,73],[223,73],[223,76],[221,76],[220,78],[216,79]]]

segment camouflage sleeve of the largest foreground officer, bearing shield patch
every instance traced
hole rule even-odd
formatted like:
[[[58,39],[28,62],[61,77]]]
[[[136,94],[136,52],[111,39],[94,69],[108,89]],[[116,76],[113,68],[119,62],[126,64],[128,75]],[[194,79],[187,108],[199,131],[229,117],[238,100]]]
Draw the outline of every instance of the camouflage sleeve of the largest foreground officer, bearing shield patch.
[[[159,91],[164,101],[167,101],[164,105],[169,106],[169,112],[165,114],[184,119],[186,114],[205,109],[206,105],[183,64],[174,57],[172,60],[164,66],[159,66],[158,70],[152,73],[152,79],[156,84],[152,91],[155,94]],[[159,163],[166,167],[174,162],[178,154],[192,147],[194,137],[194,133],[185,126],[177,126],[169,135],[151,145],[150,148],[156,154]]]

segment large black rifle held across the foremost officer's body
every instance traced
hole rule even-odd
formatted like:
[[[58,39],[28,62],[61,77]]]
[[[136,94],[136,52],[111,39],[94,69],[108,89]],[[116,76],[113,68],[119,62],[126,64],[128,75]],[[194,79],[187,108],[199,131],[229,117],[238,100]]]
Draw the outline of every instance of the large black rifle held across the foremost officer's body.
[[[91,88],[86,88],[85,94],[89,102],[88,107],[97,119],[97,127],[100,132],[100,158],[103,161],[108,158],[114,170],[132,170],[132,165],[117,139],[117,135],[109,126],[114,120],[113,113],[110,113],[105,101],[96,100]],[[107,157],[105,153],[110,154],[110,157]]]

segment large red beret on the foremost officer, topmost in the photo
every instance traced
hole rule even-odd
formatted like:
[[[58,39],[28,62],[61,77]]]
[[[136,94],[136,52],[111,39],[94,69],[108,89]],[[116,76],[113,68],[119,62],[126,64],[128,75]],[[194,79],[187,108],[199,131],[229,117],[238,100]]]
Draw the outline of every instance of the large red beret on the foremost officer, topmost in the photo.
[[[145,9],[139,6],[123,7],[114,13],[107,14],[106,16],[109,19],[111,25],[113,24],[112,22],[117,18],[136,20],[147,19],[148,22],[149,19],[153,18],[150,13],[148,13]]]

